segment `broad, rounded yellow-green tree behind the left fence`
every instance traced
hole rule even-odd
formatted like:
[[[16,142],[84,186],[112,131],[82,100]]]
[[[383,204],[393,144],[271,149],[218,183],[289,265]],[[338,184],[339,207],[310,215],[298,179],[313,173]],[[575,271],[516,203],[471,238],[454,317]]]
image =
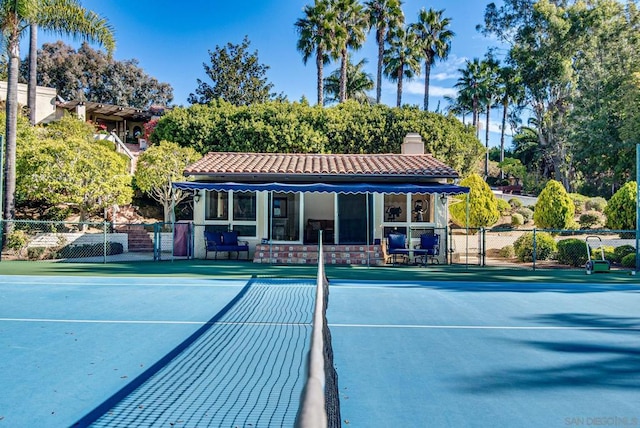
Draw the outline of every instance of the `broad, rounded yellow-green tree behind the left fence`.
[[[127,159],[93,141],[93,128],[65,116],[41,133],[37,143],[20,141],[17,156],[21,199],[77,208],[80,221],[133,195]]]

